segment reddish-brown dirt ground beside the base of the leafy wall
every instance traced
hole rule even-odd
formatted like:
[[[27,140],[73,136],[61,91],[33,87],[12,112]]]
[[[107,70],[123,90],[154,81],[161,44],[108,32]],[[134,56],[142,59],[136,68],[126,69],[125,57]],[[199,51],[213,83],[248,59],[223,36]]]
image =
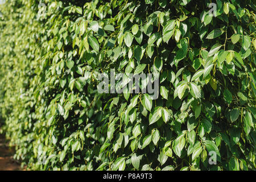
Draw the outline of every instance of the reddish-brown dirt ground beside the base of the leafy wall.
[[[13,159],[14,150],[8,146],[5,137],[0,135],[0,171],[19,171],[19,163]]]

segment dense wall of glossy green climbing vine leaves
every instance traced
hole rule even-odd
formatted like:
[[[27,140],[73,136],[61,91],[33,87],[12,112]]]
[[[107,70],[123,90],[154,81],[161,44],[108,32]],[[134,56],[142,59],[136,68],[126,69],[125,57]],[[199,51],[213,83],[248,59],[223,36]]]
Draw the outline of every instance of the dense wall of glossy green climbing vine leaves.
[[[255,3],[0,5],[0,119],[31,169],[255,170]],[[213,6],[211,6],[213,7]],[[153,73],[159,97],[98,93]],[[209,152],[217,154],[210,165]]]

